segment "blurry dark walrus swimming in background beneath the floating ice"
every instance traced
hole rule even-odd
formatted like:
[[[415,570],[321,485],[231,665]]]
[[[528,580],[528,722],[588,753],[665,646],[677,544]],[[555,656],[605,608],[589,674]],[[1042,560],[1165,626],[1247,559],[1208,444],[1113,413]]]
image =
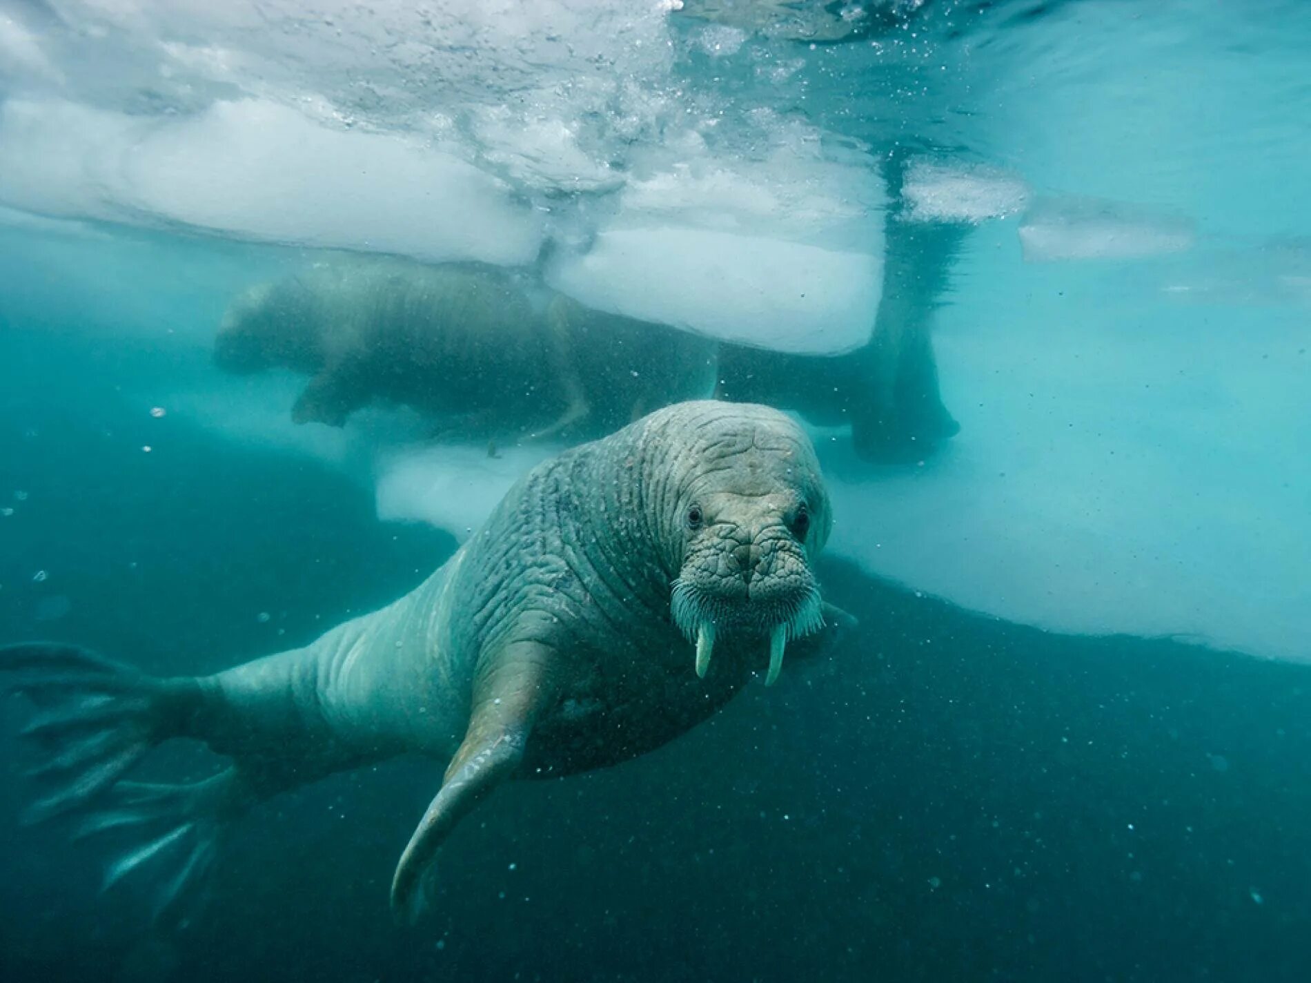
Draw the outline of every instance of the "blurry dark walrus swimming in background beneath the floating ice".
[[[932,314],[964,230],[889,223],[871,340],[842,356],[718,343],[598,311],[493,266],[340,256],[239,297],[215,339],[233,373],[309,375],[296,423],[341,427],[409,406],[461,438],[598,437],[716,395],[848,425],[872,461],[923,457],[958,429],[943,404]]]

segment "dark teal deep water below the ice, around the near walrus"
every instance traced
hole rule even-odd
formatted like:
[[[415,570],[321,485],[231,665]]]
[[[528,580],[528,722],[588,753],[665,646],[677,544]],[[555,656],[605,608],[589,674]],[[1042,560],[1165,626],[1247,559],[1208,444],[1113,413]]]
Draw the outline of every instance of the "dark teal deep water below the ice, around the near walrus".
[[[143,417],[117,387],[159,371],[144,346],[10,329],[0,365],[0,495],[25,493],[0,517],[0,639],[212,671],[395,597],[452,550],[378,522],[333,472]],[[823,579],[863,618],[831,660],[649,757],[498,793],[414,928],[387,886],[437,765],[260,807],[205,916],[157,934],[131,885],[97,896],[100,845],[17,824],[8,703],[0,979],[1311,974],[1306,668],[1044,634],[842,564]]]

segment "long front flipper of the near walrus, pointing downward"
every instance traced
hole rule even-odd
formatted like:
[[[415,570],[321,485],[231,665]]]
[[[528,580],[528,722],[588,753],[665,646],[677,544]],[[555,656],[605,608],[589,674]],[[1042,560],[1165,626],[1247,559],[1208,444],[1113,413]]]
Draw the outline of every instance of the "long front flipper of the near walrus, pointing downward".
[[[438,847],[523,761],[532,721],[545,702],[541,668],[551,658],[543,646],[519,643],[480,673],[464,740],[392,879],[392,908],[408,920],[422,912],[422,879]]]

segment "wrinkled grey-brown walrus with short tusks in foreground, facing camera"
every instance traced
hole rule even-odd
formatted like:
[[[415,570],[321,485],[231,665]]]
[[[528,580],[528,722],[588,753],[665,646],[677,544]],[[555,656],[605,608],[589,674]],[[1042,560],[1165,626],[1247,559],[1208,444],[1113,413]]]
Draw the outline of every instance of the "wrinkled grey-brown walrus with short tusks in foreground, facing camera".
[[[853,619],[814,560],[831,528],[814,449],[754,404],[680,403],[526,474],[450,560],[393,604],[303,648],[206,677],[159,679],[71,644],[0,648],[34,702],[43,753],[31,819],[140,828],[111,883],[172,858],[176,911],[253,803],[402,752],[448,761],[391,900],[416,913],[425,871],[471,808],[511,778],[612,765],[676,738],[785,652]],[[197,784],[130,781],[163,742],[231,759]]]

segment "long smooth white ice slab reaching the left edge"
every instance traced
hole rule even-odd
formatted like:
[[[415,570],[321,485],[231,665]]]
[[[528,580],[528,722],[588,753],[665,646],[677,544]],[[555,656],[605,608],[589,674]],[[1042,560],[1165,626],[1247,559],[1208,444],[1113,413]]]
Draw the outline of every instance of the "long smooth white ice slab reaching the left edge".
[[[0,198],[63,217],[515,265],[539,219],[490,176],[400,135],[258,100],[173,119],[62,101],[0,109]]]

